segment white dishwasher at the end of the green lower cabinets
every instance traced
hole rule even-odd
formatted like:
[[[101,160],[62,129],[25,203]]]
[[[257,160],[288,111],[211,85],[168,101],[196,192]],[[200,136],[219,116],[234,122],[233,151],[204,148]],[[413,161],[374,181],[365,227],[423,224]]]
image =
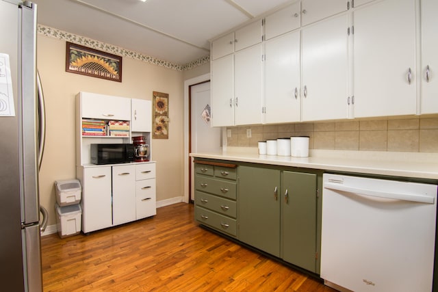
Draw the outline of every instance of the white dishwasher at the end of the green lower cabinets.
[[[323,175],[321,278],[338,290],[432,291],[437,185]]]

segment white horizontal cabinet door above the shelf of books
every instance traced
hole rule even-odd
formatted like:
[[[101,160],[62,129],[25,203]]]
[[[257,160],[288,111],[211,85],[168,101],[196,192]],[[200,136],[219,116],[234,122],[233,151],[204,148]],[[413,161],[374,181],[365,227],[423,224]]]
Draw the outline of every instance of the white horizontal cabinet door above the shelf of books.
[[[131,99],[81,92],[82,118],[131,120]]]

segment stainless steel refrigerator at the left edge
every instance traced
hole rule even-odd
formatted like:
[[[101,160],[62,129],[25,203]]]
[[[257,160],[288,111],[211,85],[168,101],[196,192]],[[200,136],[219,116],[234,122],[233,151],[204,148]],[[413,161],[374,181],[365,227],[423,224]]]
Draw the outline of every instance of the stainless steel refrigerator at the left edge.
[[[0,0],[0,289],[42,291],[36,5]]]

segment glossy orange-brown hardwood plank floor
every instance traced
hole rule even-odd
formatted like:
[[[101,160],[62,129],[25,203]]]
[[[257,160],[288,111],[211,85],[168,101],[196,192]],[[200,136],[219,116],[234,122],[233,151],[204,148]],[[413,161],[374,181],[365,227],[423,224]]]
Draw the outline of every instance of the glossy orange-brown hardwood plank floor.
[[[335,291],[199,227],[192,204],[41,243],[44,291]]]

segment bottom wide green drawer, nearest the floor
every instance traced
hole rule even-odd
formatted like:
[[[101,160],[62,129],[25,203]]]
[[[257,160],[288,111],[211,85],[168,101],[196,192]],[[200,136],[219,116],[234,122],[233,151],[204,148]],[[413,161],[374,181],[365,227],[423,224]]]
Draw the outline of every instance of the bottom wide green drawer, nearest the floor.
[[[237,222],[235,219],[198,206],[194,209],[194,217],[199,223],[210,226],[222,233],[227,233],[233,237],[237,235]]]

